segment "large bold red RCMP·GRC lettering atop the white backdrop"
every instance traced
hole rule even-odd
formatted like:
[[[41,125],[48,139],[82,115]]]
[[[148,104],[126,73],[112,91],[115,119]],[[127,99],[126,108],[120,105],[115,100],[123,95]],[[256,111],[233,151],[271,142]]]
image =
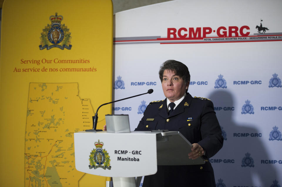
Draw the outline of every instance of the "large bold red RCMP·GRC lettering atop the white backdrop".
[[[248,32],[250,30],[249,26],[242,26],[241,28],[236,26],[219,27],[216,30],[213,30],[210,27],[197,27],[196,29],[191,28],[167,28],[167,38],[168,39],[200,39],[205,38],[207,35],[212,32],[216,33],[218,37],[239,37],[239,34],[243,37],[246,37],[250,34]],[[202,37],[201,37],[202,36]]]

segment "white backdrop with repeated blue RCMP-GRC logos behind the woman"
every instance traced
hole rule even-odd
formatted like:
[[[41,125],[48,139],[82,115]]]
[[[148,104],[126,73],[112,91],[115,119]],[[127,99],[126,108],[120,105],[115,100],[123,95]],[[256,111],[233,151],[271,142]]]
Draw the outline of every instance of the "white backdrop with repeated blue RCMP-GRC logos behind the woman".
[[[164,99],[160,65],[191,74],[188,92],[214,103],[223,148],[209,162],[217,186],[282,183],[281,1],[169,1],[115,14],[115,99],[133,131],[146,106]]]

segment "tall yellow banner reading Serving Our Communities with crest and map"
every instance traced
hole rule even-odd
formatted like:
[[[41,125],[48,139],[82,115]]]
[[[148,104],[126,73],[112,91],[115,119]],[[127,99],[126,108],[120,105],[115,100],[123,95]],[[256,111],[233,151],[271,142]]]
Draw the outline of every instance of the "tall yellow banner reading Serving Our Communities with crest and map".
[[[112,100],[112,19],[110,0],[5,0],[1,186],[105,186],[75,169],[73,133],[91,129]],[[98,129],[105,114],[111,105]]]

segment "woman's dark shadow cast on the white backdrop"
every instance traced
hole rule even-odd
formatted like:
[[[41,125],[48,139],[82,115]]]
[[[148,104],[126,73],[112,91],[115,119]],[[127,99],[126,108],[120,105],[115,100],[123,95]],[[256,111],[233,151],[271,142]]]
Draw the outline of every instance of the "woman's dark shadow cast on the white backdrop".
[[[215,109],[216,107],[234,107],[235,105],[234,95],[225,90],[216,90],[208,98],[214,103]],[[263,138],[265,139],[269,132],[259,132],[255,128],[259,124],[255,124],[256,121],[251,121],[254,116],[250,116],[250,121],[237,122],[238,120],[235,118],[238,115],[235,117],[235,113],[239,116],[252,115],[241,114],[240,105],[234,111],[218,110],[218,108],[216,110],[216,116],[225,140],[223,148],[212,159],[234,159],[234,163],[212,163],[216,183],[220,184],[219,179],[222,179],[226,186],[271,186],[273,181],[278,179],[276,169],[273,164],[261,164],[261,160],[270,159],[266,147],[263,147]],[[249,133],[248,137],[244,137],[246,133]],[[261,137],[252,137],[251,133],[253,136],[257,134]],[[232,180],[236,182],[227,185]]]

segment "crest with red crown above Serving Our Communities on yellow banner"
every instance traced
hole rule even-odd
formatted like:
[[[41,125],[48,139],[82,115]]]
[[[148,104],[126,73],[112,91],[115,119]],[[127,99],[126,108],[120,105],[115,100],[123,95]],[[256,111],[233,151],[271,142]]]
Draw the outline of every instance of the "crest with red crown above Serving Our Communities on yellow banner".
[[[72,45],[70,45],[70,32],[68,27],[63,24],[61,25],[61,21],[63,20],[63,16],[59,15],[56,12],[55,16],[50,16],[49,20],[51,21],[51,25],[47,24],[41,32],[39,49],[51,49],[53,47],[58,47],[60,49],[71,49]]]

